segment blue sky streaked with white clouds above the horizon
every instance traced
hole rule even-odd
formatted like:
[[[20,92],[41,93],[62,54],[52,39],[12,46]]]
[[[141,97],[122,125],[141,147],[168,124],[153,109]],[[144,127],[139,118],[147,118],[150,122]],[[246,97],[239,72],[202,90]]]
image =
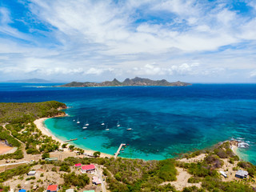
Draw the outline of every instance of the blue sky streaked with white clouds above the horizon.
[[[0,81],[256,82],[256,1],[3,0]]]

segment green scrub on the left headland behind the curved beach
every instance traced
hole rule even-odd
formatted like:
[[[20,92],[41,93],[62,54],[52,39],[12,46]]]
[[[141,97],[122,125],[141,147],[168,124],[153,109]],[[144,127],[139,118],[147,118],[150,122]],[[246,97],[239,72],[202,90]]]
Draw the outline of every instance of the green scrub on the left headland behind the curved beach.
[[[26,144],[26,154],[41,154],[42,152],[58,150],[59,143],[55,142],[51,137],[42,135],[41,131],[34,125],[36,118],[65,114],[58,108],[66,108],[66,105],[54,101],[0,103],[0,123],[9,122],[5,128],[0,126],[0,140],[6,140],[8,145],[18,147],[18,150],[13,154],[0,155],[0,160],[23,158],[22,143]],[[39,150],[38,146],[40,146]]]

